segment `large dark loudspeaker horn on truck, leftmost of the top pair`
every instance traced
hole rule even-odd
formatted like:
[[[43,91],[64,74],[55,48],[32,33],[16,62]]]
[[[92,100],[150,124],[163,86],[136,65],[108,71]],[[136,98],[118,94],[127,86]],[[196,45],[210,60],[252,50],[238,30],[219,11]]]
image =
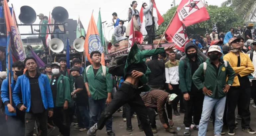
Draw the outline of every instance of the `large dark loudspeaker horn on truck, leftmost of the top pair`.
[[[31,25],[37,20],[37,14],[30,6],[22,6],[20,8],[19,20],[26,25]]]

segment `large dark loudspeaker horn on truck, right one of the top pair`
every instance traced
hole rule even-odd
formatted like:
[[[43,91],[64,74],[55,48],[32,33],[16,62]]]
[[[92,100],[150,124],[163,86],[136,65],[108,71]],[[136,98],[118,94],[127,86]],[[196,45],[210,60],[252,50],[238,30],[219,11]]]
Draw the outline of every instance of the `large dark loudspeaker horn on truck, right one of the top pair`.
[[[55,7],[52,12],[53,19],[58,23],[65,23],[68,19],[68,12],[63,7]]]

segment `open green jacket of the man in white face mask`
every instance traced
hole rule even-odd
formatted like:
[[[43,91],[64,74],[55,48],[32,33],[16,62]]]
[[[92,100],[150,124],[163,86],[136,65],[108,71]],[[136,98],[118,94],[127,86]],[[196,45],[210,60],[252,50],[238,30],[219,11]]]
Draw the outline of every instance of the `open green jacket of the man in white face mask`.
[[[52,77],[51,81],[54,77]],[[70,93],[70,86],[69,86],[69,78],[64,75],[60,75],[57,81],[57,99],[56,104],[54,106],[62,107],[64,102],[67,101],[68,105],[71,102],[71,93]]]

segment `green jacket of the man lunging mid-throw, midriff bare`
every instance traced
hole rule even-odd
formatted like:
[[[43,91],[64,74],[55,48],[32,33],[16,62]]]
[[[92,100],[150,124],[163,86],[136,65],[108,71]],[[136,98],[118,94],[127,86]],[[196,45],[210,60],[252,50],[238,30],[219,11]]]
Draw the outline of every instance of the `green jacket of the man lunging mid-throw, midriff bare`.
[[[129,65],[139,64],[139,63],[146,63],[145,62],[146,57],[150,57],[152,55],[157,55],[157,54],[161,54],[161,53],[165,53],[164,47],[140,51],[137,44],[134,44],[132,46],[131,50],[129,51],[129,54],[128,54],[128,57],[127,57],[127,60],[126,60],[126,64],[125,64],[125,67],[124,67],[124,74],[126,74]],[[146,70],[145,74],[143,74],[143,76],[140,77],[140,82],[141,83],[140,83],[139,86],[143,86],[141,88],[141,92],[147,92],[147,91],[150,90],[150,87],[146,85],[146,83],[148,83],[148,74],[150,74],[150,73],[151,73],[151,71],[147,66],[147,70]]]

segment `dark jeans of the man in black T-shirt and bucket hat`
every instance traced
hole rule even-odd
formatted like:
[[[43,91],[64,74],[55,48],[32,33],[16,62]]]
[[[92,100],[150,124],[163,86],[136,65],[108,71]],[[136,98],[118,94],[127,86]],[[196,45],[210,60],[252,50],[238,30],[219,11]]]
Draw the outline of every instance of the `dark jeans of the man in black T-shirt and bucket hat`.
[[[88,106],[75,106],[75,113],[77,117],[78,126],[89,129],[89,111]]]

